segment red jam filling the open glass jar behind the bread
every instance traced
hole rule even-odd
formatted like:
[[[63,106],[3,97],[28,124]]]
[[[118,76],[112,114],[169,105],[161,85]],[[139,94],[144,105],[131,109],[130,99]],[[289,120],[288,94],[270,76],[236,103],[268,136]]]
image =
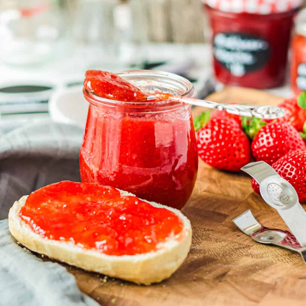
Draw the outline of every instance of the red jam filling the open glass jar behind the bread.
[[[181,209],[198,168],[190,107],[183,108],[137,116],[91,105],[80,150],[82,181]]]

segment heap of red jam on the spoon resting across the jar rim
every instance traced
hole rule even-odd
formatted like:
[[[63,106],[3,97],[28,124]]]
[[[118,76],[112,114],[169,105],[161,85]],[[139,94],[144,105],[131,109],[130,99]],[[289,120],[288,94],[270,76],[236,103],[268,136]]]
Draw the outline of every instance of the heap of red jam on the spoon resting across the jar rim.
[[[101,70],[86,71],[84,88],[111,100],[141,101],[147,97],[139,88],[120,76]]]

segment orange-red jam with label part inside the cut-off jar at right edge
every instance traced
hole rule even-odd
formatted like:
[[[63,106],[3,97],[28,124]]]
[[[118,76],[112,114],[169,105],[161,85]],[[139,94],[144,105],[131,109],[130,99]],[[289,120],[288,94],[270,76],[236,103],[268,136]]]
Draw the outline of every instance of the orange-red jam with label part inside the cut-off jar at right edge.
[[[291,45],[291,88],[298,95],[306,90],[306,37],[295,34]]]

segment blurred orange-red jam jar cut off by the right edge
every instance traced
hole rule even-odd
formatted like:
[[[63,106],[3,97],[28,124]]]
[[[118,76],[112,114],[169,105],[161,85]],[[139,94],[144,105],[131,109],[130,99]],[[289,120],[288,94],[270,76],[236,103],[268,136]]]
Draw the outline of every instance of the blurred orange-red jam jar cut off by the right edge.
[[[306,9],[296,18],[291,41],[291,88],[296,95],[306,91]]]

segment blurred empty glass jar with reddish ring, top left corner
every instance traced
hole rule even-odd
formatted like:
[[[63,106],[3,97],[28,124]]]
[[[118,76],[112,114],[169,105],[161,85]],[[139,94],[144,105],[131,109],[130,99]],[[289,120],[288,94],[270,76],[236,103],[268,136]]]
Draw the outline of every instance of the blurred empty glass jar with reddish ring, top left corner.
[[[12,0],[0,5],[0,57],[10,65],[36,65],[59,50],[64,20],[52,0]]]

